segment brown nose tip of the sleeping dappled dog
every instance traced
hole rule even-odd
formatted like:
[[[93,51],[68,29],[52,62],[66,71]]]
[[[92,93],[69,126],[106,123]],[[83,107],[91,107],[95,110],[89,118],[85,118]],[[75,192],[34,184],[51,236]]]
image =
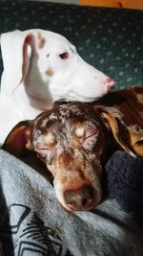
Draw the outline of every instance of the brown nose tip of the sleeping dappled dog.
[[[65,191],[64,198],[72,211],[88,210],[92,207],[93,190],[90,185],[85,185],[78,190]]]

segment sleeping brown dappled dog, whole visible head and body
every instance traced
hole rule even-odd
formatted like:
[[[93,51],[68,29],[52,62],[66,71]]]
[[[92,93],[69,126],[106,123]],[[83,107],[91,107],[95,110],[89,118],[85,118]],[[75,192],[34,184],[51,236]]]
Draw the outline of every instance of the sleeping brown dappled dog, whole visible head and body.
[[[16,156],[35,151],[53,176],[57,198],[71,211],[102,199],[103,165],[118,148],[143,156],[142,86],[113,92],[94,105],[55,105],[19,123],[3,146]]]

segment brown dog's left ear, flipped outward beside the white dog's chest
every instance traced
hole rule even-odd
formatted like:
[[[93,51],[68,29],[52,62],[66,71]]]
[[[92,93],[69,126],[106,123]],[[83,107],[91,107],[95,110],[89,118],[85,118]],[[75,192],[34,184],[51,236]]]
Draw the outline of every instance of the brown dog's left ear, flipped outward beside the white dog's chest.
[[[15,156],[21,156],[26,149],[31,150],[31,121],[22,121],[12,128],[2,149]]]

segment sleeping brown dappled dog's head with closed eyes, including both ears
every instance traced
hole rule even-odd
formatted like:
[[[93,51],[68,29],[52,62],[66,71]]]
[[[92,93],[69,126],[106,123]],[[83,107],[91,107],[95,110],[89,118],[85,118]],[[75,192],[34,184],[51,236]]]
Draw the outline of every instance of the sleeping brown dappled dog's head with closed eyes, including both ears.
[[[111,125],[104,126],[103,119]],[[113,136],[122,147],[117,124],[108,111],[104,110],[103,117],[101,107],[81,103],[57,105],[33,121],[19,123],[3,148],[17,156],[25,149],[35,151],[53,176],[56,197],[62,205],[71,211],[87,210],[102,198],[105,127],[112,127]]]

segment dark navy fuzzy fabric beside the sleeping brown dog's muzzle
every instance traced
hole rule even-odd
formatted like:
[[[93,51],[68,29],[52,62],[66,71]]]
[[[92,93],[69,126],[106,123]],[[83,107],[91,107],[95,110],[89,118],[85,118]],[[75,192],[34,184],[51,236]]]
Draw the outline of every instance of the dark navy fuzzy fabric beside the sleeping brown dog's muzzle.
[[[109,198],[143,227],[143,158],[116,151],[106,165]]]

